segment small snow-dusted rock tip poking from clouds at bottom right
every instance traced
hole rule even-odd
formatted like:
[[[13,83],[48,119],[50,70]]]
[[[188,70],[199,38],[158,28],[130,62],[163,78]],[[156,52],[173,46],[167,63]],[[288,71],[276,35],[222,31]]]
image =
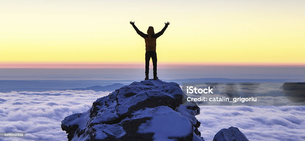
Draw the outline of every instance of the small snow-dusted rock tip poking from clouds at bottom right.
[[[236,127],[221,129],[214,136],[213,141],[249,141],[247,137]]]

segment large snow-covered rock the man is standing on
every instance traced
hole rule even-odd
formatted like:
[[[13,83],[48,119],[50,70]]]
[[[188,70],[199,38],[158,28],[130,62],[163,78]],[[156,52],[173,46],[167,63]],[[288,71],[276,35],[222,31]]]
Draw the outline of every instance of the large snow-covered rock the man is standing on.
[[[204,141],[195,117],[200,108],[185,98],[174,82],[133,82],[67,116],[61,127],[69,141]]]

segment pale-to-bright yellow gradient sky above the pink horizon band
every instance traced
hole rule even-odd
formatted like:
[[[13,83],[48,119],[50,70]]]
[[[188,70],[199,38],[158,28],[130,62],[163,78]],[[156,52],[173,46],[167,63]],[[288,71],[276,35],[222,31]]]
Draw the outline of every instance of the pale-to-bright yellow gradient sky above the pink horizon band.
[[[158,62],[305,64],[305,1],[4,0],[1,62],[144,62],[144,33],[160,31]]]

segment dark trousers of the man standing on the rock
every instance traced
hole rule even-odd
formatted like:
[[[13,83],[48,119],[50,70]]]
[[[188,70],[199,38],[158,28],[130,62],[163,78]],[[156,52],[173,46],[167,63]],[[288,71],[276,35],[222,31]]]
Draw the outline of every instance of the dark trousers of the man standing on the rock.
[[[156,51],[146,51],[145,53],[145,75],[149,74],[149,60],[152,58],[153,75],[157,75],[157,53]]]

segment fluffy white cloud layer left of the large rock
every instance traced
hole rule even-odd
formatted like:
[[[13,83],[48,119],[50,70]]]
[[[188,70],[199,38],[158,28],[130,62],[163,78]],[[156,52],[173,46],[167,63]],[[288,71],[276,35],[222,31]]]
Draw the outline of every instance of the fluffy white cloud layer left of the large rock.
[[[61,121],[87,111],[97,98],[109,92],[47,91],[0,93],[0,132],[25,132],[24,138],[0,140],[67,140]]]

